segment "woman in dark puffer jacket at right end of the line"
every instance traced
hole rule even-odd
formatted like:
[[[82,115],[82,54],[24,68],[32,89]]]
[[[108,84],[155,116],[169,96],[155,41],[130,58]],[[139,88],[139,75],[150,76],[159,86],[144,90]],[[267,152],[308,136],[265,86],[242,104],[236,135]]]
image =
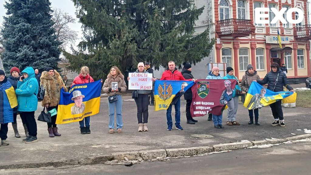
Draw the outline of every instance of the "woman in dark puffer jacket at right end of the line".
[[[257,82],[261,85],[268,83],[267,89],[273,92],[283,91],[283,86],[287,87],[291,92],[294,91],[293,88],[288,85],[286,74],[281,71],[280,66],[277,63],[272,63],[271,72],[267,73],[262,80],[257,80]],[[279,100],[270,104],[272,115],[274,117],[274,122],[271,124],[272,126],[285,126],[281,103],[282,101]]]

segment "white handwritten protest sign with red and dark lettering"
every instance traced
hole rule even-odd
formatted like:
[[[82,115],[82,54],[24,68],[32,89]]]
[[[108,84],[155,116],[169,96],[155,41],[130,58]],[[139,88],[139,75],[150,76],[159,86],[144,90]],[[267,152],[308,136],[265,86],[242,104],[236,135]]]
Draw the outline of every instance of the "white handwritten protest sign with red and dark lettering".
[[[129,90],[152,90],[152,73],[129,73]]]

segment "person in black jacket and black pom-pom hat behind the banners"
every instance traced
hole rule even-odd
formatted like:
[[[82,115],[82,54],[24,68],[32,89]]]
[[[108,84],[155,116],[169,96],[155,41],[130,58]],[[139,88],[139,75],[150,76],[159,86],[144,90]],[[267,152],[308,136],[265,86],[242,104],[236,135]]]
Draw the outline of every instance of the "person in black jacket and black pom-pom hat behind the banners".
[[[183,74],[183,78],[185,79],[193,79],[193,75],[191,74],[192,68],[191,64],[184,62],[183,63],[183,70],[181,71],[181,74]],[[186,117],[187,117],[187,124],[195,124],[197,120],[194,120],[191,117],[190,113],[190,106],[192,102],[192,91],[191,88],[189,88],[184,94],[183,97],[185,98],[187,104],[186,104]]]

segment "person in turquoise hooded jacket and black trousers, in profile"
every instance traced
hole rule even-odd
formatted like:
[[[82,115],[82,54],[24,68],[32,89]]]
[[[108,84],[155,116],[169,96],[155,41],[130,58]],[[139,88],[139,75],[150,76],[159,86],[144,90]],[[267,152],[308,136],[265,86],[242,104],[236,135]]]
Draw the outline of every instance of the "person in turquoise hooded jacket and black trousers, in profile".
[[[35,120],[35,111],[38,105],[38,81],[35,78],[35,70],[27,67],[21,72],[23,75],[17,83],[15,90],[18,102],[17,111],[23,112],[26,119],[26,126],[29,136],[23,139],[25,143],[37,142],[37,123]]]

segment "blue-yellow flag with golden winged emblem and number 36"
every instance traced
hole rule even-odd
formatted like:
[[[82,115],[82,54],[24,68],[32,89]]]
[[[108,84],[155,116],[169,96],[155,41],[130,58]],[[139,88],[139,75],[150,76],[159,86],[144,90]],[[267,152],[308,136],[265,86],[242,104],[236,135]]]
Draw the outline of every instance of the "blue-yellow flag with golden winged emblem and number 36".
[[[154,92],[155,111],[166,110],[175,97],[180,98],[194,83],[194,81],[156,80]],[[180,92],[182,88],[183,92]]]

